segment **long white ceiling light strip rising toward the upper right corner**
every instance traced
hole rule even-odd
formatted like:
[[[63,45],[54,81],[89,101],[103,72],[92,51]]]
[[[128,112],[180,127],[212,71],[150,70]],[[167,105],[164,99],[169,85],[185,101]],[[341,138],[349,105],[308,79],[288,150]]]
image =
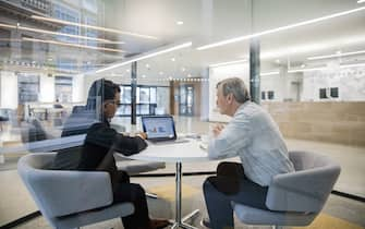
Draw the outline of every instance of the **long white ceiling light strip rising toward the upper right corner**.
[[[365,10],[365,7],[356,8],[356,9],[353,9],[353,10],[343,11],[343,12],[340,12],[340,13],[334,13],[334,14],[330,14],[330,15],[317,17],[317,19],[314,19],[314,20],[308,20],[308,21],[287,25],[287,26],[281,26],[281,27],[278,27],[278,28],[272,28],[272,29],[259,32],[259,33],[256,33],[256,34],[235,37],[235,38],[232,38],[232,39],[227,39],[227,40],[209,44],[209,45],[206,45],[206,46],[200,46],[196,49],[197,50],[205,50],[205,49],[215,48],[215,47],[219,47],[219,46],[223,46],[223,45],[228,45],[228,44],[232,44],[232,43],[243,41],[243,40],[247,40],[247,39],[251,39],[251,38],[268,35],[268,34],[273,34],[273,33],[277,33],[277,32],[288,31],[288,29],[291,29],[291,28],[295,28],[295,27],[300,27],[300,26],[304,26],[304,25],[309,25],[309,24],[314,24],[314,23],[317,23],[317,22],[323,22],[323,21],[330,20],[330,19],[349,15],[349,14],[356,13],[356,12],[360,12],[360,11],[363,11],[363,10]]]

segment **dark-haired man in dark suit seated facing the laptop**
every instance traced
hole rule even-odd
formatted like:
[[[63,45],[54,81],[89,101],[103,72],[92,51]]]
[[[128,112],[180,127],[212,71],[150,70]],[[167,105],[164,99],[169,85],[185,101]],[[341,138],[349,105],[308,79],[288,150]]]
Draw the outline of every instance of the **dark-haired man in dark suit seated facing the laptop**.
[[[119,171],[115,166],[114,152],[130,156],[147,147],[145,133],[138,133],[131,137],[119,134],[110,128],[110,119],[115,114],[119,99],[120,88],[117,84],[104,79],[93,83],[88,93],[86,110],[95,111],[95,117],[99,121],[87,130],[76,169],[109,172],[113,201],[132,202],[135,208],[133,215],[122,218],[125,229],[163,228],[169,225],[168,220],[149,219],[144,189],[139,184],[130,183],[129,174]]]

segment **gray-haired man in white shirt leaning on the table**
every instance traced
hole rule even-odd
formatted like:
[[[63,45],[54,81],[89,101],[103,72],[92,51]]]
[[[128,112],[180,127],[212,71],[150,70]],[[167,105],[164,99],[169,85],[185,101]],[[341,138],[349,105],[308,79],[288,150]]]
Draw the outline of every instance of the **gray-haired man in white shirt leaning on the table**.
[[[209,219],[204,226],[214,229],[234,228],[231,202],[255,208],[265,205],[273,176],[294,171],[283,137],[270,114],[250,101],[244,82],[239,77],[217,84],[217,107],[232,117],[223,126],[214,128],[208,155],[214,159],[239,156],[239,162],[220,162],[217,174],[204,182]]]

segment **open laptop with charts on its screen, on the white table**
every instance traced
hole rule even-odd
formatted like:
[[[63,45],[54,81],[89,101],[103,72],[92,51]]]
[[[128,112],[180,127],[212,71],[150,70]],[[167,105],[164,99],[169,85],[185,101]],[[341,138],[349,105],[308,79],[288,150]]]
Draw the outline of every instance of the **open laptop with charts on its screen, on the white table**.
[[[186,138],[178,138],[172,116],[143,116],[141,119],[148,142],[155,144],[188,142]]]

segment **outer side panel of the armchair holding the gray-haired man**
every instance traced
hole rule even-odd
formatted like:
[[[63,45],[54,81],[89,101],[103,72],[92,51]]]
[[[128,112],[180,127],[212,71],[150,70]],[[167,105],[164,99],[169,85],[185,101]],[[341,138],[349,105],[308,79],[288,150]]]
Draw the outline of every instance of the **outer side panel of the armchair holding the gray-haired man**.
[[[272,210],[318,213],[339,174],[338,165],[278,174],[269,185],[266,205]]]

